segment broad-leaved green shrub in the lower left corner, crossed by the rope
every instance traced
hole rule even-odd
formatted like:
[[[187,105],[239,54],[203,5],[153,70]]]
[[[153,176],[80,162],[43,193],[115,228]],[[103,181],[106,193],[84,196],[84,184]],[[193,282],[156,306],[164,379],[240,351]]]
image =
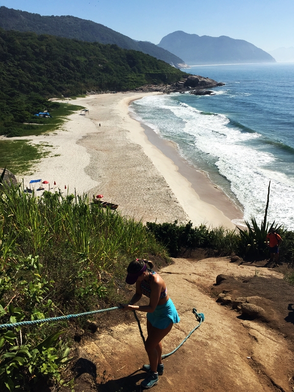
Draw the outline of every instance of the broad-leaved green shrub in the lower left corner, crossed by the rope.
[[[42,273],[38,257],[10,259],[0,270],[1,323],[25,318],[49,317],[53,302],[49,299],[52,281]],[[14,331],[0,329],[0,390],[29,390],[40,378],[59,385],[62,368],[70,361],[70,349],[60,340],[63,331],[55,330],[44,339],[44,328]],[[72,383],[72,382],[71,382]]]

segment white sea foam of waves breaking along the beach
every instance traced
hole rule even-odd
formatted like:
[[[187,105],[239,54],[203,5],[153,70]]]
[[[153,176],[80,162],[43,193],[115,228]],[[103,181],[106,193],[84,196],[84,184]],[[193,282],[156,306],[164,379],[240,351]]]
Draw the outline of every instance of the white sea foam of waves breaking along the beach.
[[[181,155],[190,163],[206,160],[208,174],[209,167],[217,168],[244,206],[245,220],[251,216],[257,221],[263,219],[271,181],[269,220],[294,229],[294,180],[285,173],[270,170],[275,156],[257,148],[264,137],[232,125],[223,114],[197,110],[176,97],[145,97],[135,101],[132,108],[142,122],[177,143]],[[226,192],[225,186],[223,191]]]

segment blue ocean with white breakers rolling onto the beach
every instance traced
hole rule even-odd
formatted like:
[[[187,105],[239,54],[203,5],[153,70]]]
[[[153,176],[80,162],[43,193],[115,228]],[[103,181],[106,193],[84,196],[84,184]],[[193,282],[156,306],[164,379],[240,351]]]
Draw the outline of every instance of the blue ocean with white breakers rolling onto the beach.
[[[294,63],[197,66],[215,95],[145,97],[130,110],[237,205],[294,230]],[[238,221],[236,221],[238,223]]]

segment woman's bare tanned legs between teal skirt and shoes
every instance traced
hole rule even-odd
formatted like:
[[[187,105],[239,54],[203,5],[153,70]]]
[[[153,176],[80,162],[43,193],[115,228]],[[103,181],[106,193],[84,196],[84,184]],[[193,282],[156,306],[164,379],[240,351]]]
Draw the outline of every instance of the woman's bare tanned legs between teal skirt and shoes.
[[[161,362],[162,344],[160,342],[171,331],[172,325],[173,322],[171,322],[167,328],[159,329],[159,328],[152,327],[150,322],[147,320],[148,337],[145,342],[145,350],[147,351],[151,371],[156,372],[157,365],[159,363],[160,364],[162,363]]]

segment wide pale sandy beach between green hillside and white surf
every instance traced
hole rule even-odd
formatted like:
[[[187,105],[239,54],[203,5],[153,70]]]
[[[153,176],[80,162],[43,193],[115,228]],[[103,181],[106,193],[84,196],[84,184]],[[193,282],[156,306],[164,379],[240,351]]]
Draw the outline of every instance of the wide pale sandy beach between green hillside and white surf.
[[[119,204],[123,215],[143,222],[191,220],[194,225],[234,228],[232,220],[243,217],[241,210],[189,166],[171,142],[130,116],[130,102],[152,94],[158,93],[73,100],[89,112],[72,114],[55,132],[25,137],[33,144],[47,144],[50,150],[33,174],[22,176],[25,186],[42,178],[49,181],[50,191],[102,194],[103,200]],[[48,190],[49,185],[44,187]]]

